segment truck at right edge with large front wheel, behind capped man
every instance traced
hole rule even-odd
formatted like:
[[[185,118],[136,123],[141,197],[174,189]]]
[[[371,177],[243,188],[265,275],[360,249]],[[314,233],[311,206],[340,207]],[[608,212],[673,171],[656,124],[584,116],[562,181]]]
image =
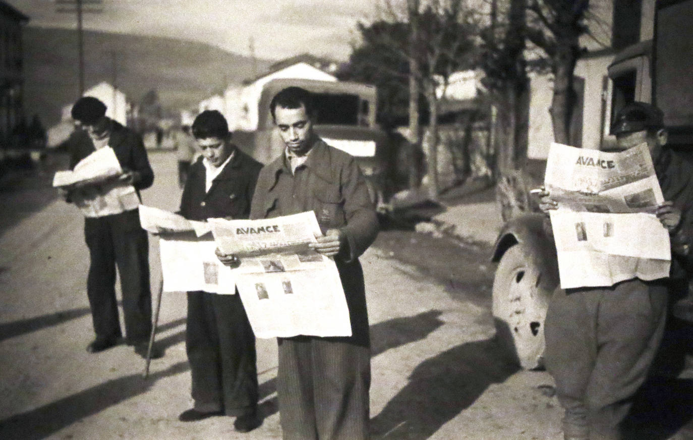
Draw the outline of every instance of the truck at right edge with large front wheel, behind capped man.
[[[584,117],[598,121],[603,134],[599,141],[606,146],[615,141],[608,136],[608,127],[619,109],[633,101],[653,103],[665,114],[669,147],[693,152],[693,0],[625,3],[640,7],[639,41],[613,55],[604,72],[602,103],[592,105],[588,114],[585,102]],[[531,116],[529,124],[531,130]],[[536,168],[536,161],[530,162]],[[543,171],[534,170],[532,175],[534,181],[524,184],[526,192],[541,185]],[[556,247],[545,222],[543,213],[516,215],[505,222],[493,249],[492,261],[498,263],[492,293],[496,337],[524,369],[543,367],[544,318],[549,299],[559,288]],[[672,314],[680,322],[693,323],[692,304],[690,296],[678,298]]]

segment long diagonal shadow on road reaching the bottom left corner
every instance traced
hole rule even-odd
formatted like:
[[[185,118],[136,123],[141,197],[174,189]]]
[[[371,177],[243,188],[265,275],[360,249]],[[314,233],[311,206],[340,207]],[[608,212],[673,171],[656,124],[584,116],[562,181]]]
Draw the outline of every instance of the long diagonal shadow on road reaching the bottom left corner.
[[[80,419],[146,393],[156,380],[187,369],[188,362],[178,362],[168,369],[151,374],[148,380],[144,380],[140,373],[123,376],[35,410],[17,414],[0,421],[0,439],[43,439]]]

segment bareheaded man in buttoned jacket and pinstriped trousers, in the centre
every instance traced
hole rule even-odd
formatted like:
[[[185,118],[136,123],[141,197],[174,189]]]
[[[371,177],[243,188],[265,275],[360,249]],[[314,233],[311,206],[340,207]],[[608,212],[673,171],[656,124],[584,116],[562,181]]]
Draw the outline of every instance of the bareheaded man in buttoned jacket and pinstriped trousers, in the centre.
[[[261,171],[250,218],[315,212],[324,236],[314,249],[337,263],[351,336],[279,338],[279,418],[285,440],[363,440],[369,438],[371,344],[358,257],[375,240],[378,218],[356,161],[313,131],[313,109],[311,94],[299,87],[272,99],[286,148]],[[238,263],[232,255],[220,260]]]

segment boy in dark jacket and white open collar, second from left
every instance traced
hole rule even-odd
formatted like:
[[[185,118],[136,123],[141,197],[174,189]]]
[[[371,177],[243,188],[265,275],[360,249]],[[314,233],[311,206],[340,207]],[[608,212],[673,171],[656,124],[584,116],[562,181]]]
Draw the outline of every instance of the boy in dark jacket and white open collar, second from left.
[[[188,220],[248,218],[262,165],[231,143],[216,110],[200,113],[192,132],[202,156],[190,168],[180,213]],[[236,431],[257,428],[255,336],[238,292],[188,292],[185,343],[195,405],[179,420],[227,415],[236,416]]]

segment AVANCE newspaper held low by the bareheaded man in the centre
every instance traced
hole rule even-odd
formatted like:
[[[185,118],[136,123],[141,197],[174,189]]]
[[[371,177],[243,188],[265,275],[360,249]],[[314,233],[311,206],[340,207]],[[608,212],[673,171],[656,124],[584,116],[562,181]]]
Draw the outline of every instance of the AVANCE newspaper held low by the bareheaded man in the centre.
[[[266,220],[208,220],[220,250],[240,256],[236,287],[257,337],[350,336],[335,262],[309,248],[313,211]]]

